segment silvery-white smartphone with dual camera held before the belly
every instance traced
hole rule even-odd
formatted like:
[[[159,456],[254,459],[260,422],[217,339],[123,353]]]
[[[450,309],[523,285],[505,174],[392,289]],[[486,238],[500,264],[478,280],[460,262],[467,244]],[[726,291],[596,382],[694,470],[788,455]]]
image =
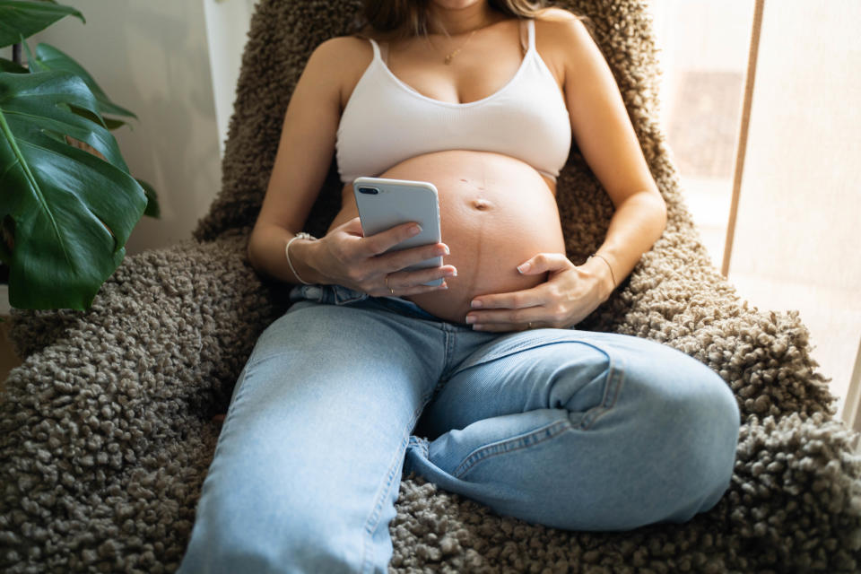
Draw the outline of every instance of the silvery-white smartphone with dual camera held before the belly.
[[[365,237],[406,222],[417,222],[422,226],[421,233],[404,239],[387,252],[439,243],[442,239],[439,230],[439,195],[437,187],[431,182],[355,178],[352,192],[356,196],[361,232]],[[406,269],[413,271],[441,265],[442,257],[431,257]],[[423,284],[440,285],[442,278]]]

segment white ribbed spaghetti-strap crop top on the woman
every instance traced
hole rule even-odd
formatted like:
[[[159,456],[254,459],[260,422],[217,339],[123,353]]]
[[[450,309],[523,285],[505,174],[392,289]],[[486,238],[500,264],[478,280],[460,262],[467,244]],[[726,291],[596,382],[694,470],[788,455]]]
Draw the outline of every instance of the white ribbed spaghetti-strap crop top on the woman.
[[[370,39],[374,58],[338,125],[341,180],[375,177],[422,153],[478,150],[526,161],[555,181],[568,160],[570,118],[559,85],[535,49],[535,21],[526,22],[528,48],[517,74],[490,96],[462,104],[413,90],[392,74]]]

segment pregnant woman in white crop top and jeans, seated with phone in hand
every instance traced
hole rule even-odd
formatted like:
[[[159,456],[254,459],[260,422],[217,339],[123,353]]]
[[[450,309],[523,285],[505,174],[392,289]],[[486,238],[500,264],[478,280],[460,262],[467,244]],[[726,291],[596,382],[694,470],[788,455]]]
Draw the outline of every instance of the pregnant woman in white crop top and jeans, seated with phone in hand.
[[[314,50],[284,117],[248,257],[293,304],[239,376],[180,570],[386,572],[402,473],[557,528],[711,509],[739,431],[724,381],[667,346],[572,328],[665,225],[583,23],[527,0],[365,14]],[[582,265],[555,202],[572,139],[615,207]],[[310,238],[334,153],[341,211]],[[364,237],[359,176],[433,183],[442,243],[385,253],[411,222]]]

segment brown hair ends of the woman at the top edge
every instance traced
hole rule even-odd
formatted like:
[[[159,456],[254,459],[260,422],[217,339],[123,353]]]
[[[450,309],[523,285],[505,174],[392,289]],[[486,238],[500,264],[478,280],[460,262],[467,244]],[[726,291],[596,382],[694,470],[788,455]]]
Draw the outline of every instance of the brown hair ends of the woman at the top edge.
[[[551,0],[487,0],[487,2],[497,12],[516,18],[535,18],[552,4]],[[360,19],[354,22],[350,35],[376,40],[427,37],[430,19],[429,3],[430,0],[362,0],[363,17],[360,16]],[[578,19],[591,24],[585,16],[578,15]]]

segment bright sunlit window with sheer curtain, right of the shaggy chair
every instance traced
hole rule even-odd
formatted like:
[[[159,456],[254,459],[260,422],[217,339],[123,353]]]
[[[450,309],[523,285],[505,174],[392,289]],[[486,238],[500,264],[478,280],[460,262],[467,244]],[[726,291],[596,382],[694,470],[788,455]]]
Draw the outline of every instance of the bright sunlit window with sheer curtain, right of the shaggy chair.
[[[839,415],[857,422],[861,3],[761,4],[744,135],[754,0],[651,5],[663,47],[665,128],[709,252],[719,267],[731,248],[728,277],[754,305],[799,311],[813,358],[840,397]],[[736,156],[740,138],[744,153]]]

